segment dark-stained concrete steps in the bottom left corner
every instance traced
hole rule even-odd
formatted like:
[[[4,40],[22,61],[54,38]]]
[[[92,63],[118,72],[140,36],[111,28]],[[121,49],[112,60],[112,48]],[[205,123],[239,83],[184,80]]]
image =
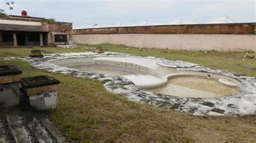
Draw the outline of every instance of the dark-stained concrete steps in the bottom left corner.
[[[0,142],[65,142],[46,113],[0,109]]]

